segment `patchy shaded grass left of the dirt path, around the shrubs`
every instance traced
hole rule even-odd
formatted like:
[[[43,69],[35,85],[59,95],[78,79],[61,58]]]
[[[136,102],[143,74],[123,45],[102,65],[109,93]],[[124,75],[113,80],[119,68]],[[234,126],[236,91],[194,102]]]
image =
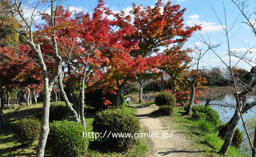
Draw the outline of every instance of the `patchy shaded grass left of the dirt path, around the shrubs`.
[[[60,102],[63,103],[63,102]],[[136,110],[132,107],[124,107],[124,110],[127,112],[135,113]],[[95,113],[88,110],[88,113],[85,114],[87,128],[92,130],[92,122],[94,120]],[[42,113],[42,104],[29,105],[23,107],[15,107],[14,109],[5,110],[5,119],[6,119],[6,128],[0,128],[0,156],[1,157],[12,157],[12,156],[35,156],[36,145],[38,141],[35,141],[31,148],[21,148],[19,141],[15,139],[12,134],[12,124],[15,120],[27,117],[34,116],[38,119],[41,118]],[[92,139],[93,142],[93,139]],[[106,156],[106,157],[115,157],[115,156],[144,156],[147,152],[147,145],[145,142],[140,140],[139,145],[127,152],[115,152],[112,150],[104,150],[102,148],[96,149],[95,146],[90,146],[88,154],[86,156]]]

